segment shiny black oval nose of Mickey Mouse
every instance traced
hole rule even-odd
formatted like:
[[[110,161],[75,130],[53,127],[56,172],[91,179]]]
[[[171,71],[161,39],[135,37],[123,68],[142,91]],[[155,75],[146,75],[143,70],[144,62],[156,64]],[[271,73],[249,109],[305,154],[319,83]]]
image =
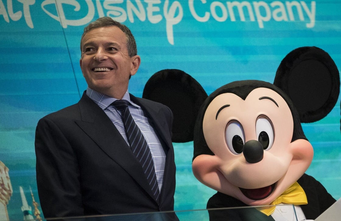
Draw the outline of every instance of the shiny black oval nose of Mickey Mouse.
[[[243,146],[243,154],[250,164],[258,163],[263,159],[263,146],[257,140],[249,140]]]

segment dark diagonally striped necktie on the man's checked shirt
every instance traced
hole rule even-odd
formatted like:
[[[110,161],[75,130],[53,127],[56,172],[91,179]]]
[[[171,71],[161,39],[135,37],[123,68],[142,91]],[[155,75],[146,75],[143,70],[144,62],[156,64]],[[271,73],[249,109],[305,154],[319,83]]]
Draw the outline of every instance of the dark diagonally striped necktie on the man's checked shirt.
[[[158,202],[160,191],[156,179],[153,159],[145,137],[131,116],[128,104],[129,102],[127,100],[116,100],[113,102],[113,105],[121,112],[121,118],[130,143],[130,148],[141,163],[155,200]]]

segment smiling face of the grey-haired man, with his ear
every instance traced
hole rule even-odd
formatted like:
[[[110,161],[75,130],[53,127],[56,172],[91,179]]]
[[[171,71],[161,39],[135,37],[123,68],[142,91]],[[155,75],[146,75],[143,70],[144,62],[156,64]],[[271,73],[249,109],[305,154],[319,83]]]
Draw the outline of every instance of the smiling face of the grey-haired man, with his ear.
[[[79,64],[88,86],[121,99],[140,64],[138,55],[129,57],[125,34],[116,26],[93,29],[84,36],[81,49]]]

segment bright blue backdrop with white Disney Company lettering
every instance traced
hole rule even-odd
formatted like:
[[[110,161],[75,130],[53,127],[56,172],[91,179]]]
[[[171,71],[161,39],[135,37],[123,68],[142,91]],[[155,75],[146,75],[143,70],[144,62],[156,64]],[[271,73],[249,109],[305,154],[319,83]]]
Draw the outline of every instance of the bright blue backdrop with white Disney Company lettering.
[[[32,208],[30,187],[39,202],[36,123],[76,103],[86,89],[80,36],[101,16],[123,22],[135,36],[142,64],[129,91],[137,97],[153,73],[167,68],[192,75],[207,94],[235,80],[273,82],[284,56],[302,46],[322,48],[341,68],[338,0],[0,0],[0,161],[13,188],[10,220],[23,218],[19,186]],[[315,151],[307,173],[339,199],[340,102],[303,130]],[[204,209],[215,192],[192,175],[192,145],[174,143],[175,210]]]

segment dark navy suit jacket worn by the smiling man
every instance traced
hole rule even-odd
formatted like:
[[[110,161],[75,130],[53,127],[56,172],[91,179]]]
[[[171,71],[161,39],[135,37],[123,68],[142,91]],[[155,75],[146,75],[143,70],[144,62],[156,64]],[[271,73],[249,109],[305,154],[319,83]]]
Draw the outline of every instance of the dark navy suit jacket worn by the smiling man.
[[[173,114],[136,98],[164,141],[166,163],[155,202],[142,166],[112,121],[85,93],[77,104],[42,118],[36,127],[36,177],[44,217],[174,210]]]

